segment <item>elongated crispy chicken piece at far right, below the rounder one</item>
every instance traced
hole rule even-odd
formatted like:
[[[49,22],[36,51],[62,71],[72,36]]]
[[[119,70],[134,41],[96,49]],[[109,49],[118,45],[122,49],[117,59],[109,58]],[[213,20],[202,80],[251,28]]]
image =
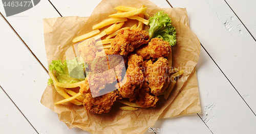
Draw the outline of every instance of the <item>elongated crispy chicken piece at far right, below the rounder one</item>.
[[[145,81],[148,82],[148,87],[151,93],[158,96],[165,88],[164,85],[168,81],[168,60],[160,57],[155,63],[151,60],[144,63],[145,66]]]

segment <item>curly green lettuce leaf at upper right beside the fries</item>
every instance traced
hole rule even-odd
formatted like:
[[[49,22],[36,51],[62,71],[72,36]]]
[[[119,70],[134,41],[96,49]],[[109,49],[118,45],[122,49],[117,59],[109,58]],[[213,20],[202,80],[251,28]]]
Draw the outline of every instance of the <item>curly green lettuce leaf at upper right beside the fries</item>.
[[[149,19],[150,29],[148,30],[150,38],[162,38],[168,41],[170,45],[174,46],[177,42],[176,29],[172,25],[167,13],[159,11],[157,14]]]

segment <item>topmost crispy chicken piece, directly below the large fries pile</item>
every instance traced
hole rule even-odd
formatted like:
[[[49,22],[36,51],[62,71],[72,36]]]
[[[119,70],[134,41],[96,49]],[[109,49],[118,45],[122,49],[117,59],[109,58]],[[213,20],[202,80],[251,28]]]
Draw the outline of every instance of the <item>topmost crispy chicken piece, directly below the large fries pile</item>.
[[[114,40],[111,42],[109,52],[114,55],[128,55],[130,52],[150,41],[150,36],[145,31],[139,29],[120,30]]]

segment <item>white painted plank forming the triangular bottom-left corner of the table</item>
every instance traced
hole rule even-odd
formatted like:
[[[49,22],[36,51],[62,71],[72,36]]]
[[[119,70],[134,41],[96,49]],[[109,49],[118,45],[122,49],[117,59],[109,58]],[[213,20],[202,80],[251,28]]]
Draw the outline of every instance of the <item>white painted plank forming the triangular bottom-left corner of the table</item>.
[[[37,133],[1,87],[0,105],[1,133]]]

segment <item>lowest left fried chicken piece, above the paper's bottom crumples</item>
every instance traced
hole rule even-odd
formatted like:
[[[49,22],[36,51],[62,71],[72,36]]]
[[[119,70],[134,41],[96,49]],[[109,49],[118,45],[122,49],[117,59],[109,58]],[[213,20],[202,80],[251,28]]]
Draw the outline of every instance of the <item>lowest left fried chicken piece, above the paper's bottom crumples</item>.
[[[87,93],[83,100],[83,106],[87,111],[95,114],[108,113],[111,110],[112,105],[114,105],[115,101],[118,99],[121,99],[118,90],[95,98],[92,97],[92,94]]]

